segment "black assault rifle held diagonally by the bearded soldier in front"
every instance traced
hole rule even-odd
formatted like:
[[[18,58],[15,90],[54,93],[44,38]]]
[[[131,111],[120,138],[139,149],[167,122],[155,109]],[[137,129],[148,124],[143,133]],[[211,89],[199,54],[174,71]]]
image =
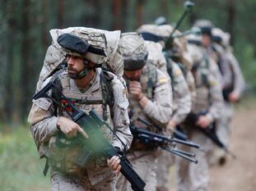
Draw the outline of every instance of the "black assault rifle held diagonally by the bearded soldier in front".
[[[81,144],[81,147],[83,148],[83,151],[86,152],[86,154],[81,153],[84,158],[80,158],[77,162],[79,164],[86,164],[86,161],[88,161],[91,158],[91,155],[93,153],[100,153],[104,155],[105,157],[113,157],[113,156],[120,156],[120,165],[121,173],[123,176],[130,182],[132,185],[132,189],[134,191],[144,191],[145,182],[141,179],[139,175],[137,175],[136,171],[133,170],[133,167],[130,165],[128,159],[124,156],[123,153],[119,152],[117,148],[114,148],[111,143],[107,139],[105,139],[105,136],[100,132],[100,128],[102,126],[106,126],[113,132],[113,134],[119,139],[119,137],[114,133],[114,131],[109,127],[109,125],[100,119],[100,116],[97,115],[97,113],[94,110],[91,110],[89,112],[89,115],[87,115],[84,111],[79,110],[71,101],[69,98],[66,98],[63,93],[58,89],[58,86],[55,84],[57,77],[53,77],[48,84],[44,86],[43,89],[41,89],[38,93],[36,93],[33,96],[33,99],[38,98],[49,98],[54,103],[56,103],[59,107],[62,107],[63,111],[67,112],[68,116],[72,118],[72,121],[75,121],[78,125],[81,126],[83,130],[86,131],[88,134],[88,138],[81,138],[80,136],[77,136],[76,138],[70,139],[72,140],[78,140]],[[67,105],[63,106],[60,102],[58,102],[55,98],[52,98],[49,96],[50,90],[57,90],[59,95],[63,100],[66,100]],[[72,112],[70,109],[72,108]],[[59,132],[57,139],[58,143],[60,145],[64,144],[61,142],[61,139],[65,137],[65,135],[62,132]],[[68,140],[68,139],[67,139]],[[120,139],[119,139],[120,140]],[[123,147],[126,148],[124,143],[120,140],[120,142],[123,144]]]

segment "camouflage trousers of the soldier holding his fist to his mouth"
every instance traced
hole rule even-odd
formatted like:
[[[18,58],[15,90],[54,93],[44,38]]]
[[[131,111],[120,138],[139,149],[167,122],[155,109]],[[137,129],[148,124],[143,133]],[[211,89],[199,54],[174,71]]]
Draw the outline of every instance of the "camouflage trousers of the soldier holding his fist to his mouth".
[[[156,191],[157,158],[153,152],[131,152],[127,157],[134,171],[145,181],[145,191]],[[116,185],[117,191],[133,191],[131,184],[121,174]]]

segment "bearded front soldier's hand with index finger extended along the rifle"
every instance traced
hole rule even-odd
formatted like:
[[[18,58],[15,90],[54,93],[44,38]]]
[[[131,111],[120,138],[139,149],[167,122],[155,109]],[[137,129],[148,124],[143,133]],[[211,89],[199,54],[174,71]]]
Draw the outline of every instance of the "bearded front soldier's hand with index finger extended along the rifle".
[[[77,131],[80,132],[85,138],[88,138],[86,131],[81,129],[81,127],[74,121],[68,119],[67,117],[58,117],[57,125],[59,129],[66,134],[67,138],[72,138],[77,136]]]

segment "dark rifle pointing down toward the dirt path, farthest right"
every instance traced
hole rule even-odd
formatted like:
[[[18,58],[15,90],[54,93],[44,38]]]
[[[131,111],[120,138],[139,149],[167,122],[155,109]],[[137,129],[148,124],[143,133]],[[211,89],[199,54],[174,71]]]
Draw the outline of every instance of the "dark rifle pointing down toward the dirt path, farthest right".
[[[216,146],[223,149],[227,154],[230,154],[231,157],[235,158],[235,154],[230,152],[230,150],[226,147],[226,145],[224,143],[222,143],[221,140],[219,139],[219,137],[217,136],[216,126],[214,123],[209,125],[207,128],[202,128],[202,127],[196,125],[199,116],[202,116],[203,114],[204,114],[204,112],[202,114],[195,114],[193,112],[190,112],[189,115],[187,116],[187,118],[185,119],[184,124],[193,125],[193,127],[195,127],[197,130],[201,131],[202,134],[207,136],[207,138],[211,139],[212,143],[215,143]]]

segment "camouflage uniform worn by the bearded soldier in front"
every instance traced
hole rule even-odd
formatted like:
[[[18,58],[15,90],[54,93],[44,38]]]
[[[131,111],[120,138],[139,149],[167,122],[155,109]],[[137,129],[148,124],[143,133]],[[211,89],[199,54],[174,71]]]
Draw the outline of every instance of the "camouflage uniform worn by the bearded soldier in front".
[[[95,56],[94,59],[96,59]],[[126,89],[116,75],[107,72],[109,83],[113,87],[114,105],[113,108],[107,105],[104,110],[100,73],[100,68],[95,69],[95,76],[87,89],[78,89],[75,81],[67,75],[67,70],[63,71],[58,80],[62,86],[63,94],[67,98],[71,98],[81,111],[88,112],[94,109],[102,118],[106,114],[105,121],[129,148],[133,136],[128,128]],[[49,79],[45,80],[44,84],[48,81]],[[111,115],[110,110],[113,111]],[[57,128],[58,116],[65,116],[69,119],[70,117],[67,116],[66,112],[63,114],[58,112],[55,116],[55,112],[56,108],[48,98],[33,100],[28,120],[40,157],[48,157],[49,159],[52,190],[115,190],[116,176],[113,171],[109,170],[105,157],[94,154],[85,166],[77,166],[75,160],[80,157],[79,153],[81,152],[79,145],[67,148],[57,147],[55,142],[56,134],[59,131]],[[113,136],[110,130],[106,127],[101,130],[114,147],[123,150],[122,143]]]

